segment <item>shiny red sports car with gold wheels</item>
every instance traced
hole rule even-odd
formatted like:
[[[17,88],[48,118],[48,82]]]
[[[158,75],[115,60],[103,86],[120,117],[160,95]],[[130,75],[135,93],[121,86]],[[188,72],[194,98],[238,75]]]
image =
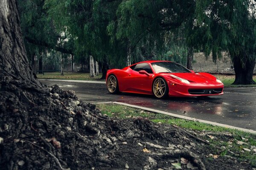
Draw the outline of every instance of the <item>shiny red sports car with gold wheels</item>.
[[[108,70],[106,84],[111,94],[153,94],[157,98],[222,95],[224,87],[209,73],[195,73],[170,61],[143,61]]]

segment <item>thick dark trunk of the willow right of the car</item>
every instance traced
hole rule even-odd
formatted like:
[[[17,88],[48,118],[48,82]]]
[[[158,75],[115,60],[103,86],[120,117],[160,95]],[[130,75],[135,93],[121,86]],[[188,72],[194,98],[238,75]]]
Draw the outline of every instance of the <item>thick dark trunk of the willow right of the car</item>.
[[[244,67],[242,64],[244,63]],[[253,69],[255,67],[255,59],[250,60],[246,57],[246,61],[242,62],[240,56],[233,57],[234,70],[236,74],[235,82],[233,85],[253,85]]]

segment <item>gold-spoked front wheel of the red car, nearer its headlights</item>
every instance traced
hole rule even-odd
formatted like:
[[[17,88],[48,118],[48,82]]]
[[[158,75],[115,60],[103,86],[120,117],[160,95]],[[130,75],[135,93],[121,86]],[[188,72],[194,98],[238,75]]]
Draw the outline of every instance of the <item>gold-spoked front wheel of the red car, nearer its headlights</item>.
[[[158,99],[163,99],[168,96],[169,88],[165,79],[157,77],[153,82],[153,94]]]

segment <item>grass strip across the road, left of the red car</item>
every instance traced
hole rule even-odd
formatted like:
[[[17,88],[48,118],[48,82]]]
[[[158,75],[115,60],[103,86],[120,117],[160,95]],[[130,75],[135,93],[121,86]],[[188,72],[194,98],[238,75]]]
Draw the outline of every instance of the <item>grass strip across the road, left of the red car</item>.
[[[64,72],[64,75],[61,76],[60,72],[45,72],[43,74],[37,74],[38,79],[69,79],[69,80],[98,80],[102,77],[102,73],[96,77],[90,77],[90,73],[78,73],[78,72]]]

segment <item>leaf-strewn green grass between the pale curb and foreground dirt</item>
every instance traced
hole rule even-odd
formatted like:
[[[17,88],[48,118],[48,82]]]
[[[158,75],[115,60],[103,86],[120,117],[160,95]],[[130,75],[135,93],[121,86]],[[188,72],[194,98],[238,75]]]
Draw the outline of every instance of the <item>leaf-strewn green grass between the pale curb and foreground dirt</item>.
[[[102,114],[106,114],[109,117],[117,117],[119,119],[128,119],[128,118],[136,118],[136,117],[143,117],[151,120],[155,123],[162,123],[162,124],[169,124],[169,125],[176,125],[179,127],[186,128],[188,130],[196,130],[199,133],[203,132],[212,132],[212,133],[228,133],[232,134],[233,137],[228,137],[228,141],[224,141],[224,139],[210,139],[209,136],[204,135],[201,136],[201,139],[209,141],[211,144],[214,144],[218,147],[226,147],[221,153],[218,153],[219,156],[230,155],[229,150],[235,153],[235,155],[231,155],[239,159],[239,161],[249,161],[253,167],[256,167],[256,154],[253,155],[253,151],[242,152],[242,148],[250,149],[250,146],[256,146],[256,135],[251,133],[246,133],[240,130],[229,129],[220,126],[209,125],[206,123],[189,121],[185,119],[178,119],[172,116],[160,114],[160,113],[152,113],[148,111],[143,111],[137,108],[131,108],[124,105],[117,105],[117,104],[97,104],[97,108],[102,112]],[[241,137],[245,138],[243,140]],[[232,144],[228,143],[232,140]],[[239,145],[236,144],[236,140],[246,142],[247,144]],[[232,146],[232,147],[231,147]],[[216,153],[217,154],[217,153]]]

